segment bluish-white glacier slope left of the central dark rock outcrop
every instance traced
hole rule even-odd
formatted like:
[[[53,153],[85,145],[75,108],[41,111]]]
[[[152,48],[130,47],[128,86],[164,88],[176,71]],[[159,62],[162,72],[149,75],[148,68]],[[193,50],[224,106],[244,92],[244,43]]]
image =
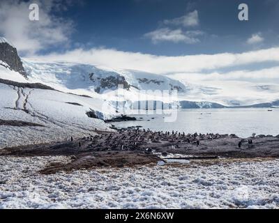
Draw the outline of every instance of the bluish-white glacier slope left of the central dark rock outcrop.
[[[99,79],[120,76],[116,72],[78,63],[44,63],[24,60],[24,68],[27,70],[30,82],[40,82],[59,91],[90,96],[98,95],[95,90],[100,86]],[[91,79],[91,74],[94,74],[96,78]]]

